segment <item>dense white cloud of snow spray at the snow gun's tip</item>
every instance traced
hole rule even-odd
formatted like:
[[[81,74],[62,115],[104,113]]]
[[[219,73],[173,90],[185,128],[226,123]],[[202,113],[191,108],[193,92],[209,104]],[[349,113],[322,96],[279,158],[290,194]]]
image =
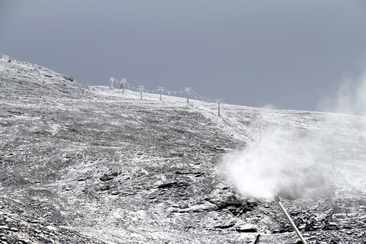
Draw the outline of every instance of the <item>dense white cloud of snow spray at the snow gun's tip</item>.
[[[268,129],[267,129],[268,130]],[[262,134],[261,141],[224,157],[225,172],[244,196],[273,198],[286,191],[287,197],[300,197],[305,186],[319,185],[324,177],[314,171],[315,158],[307,143],[295,139],[282,126]]]

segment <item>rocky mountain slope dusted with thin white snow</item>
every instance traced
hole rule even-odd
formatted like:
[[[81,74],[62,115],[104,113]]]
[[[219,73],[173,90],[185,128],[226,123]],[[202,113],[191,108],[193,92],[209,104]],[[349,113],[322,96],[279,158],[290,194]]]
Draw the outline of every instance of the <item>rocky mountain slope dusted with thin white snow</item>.
[[[1,55],[0,241],[366,243],[364,117],[159,99]]]

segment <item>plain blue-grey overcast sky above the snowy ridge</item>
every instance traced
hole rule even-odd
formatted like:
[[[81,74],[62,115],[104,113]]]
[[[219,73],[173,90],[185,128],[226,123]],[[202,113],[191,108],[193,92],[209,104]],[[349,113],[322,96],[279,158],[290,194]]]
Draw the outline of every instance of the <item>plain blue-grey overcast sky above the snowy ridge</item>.
[[[78,83],[315,110],[366,71],[366,1],[0,0],[0,53]]]

